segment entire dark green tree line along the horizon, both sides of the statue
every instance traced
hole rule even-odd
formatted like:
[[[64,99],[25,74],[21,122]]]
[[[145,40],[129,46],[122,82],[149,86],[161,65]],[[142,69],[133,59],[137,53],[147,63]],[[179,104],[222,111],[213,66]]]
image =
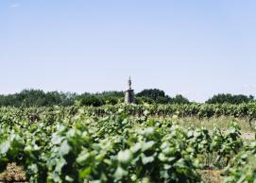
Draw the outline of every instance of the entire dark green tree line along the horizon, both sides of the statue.
[[[149,89],[136,93],[137,104],[189,104],[187,98],[178,94],[170,97],[164,91]],[[1,94],[0,107],[51,107],[51,106],[104,106],[124,102],[124,91],[103,91],[97,93],[24,90],[14,94]],[[242,104],[255,102],[254,96],[244,94],[221,93],[213,95],[205,103],[208,104]]]

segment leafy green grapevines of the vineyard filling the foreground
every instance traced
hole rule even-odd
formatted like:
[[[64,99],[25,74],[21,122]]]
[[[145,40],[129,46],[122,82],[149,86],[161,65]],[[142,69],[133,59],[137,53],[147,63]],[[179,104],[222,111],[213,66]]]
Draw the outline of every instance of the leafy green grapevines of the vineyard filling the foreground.
[[[229,117],[229,127],[184,126]],[[256,104],[115,105],[0,108],[0,173],[15,163],[19,180],[0,182],[255,182]],[[206,176],[206,177],[204,177]]]

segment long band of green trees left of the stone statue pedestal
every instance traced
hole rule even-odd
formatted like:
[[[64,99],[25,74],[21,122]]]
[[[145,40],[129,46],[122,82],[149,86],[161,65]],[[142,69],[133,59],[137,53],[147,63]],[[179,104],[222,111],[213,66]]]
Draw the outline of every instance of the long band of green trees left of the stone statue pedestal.
[[[115,105],[123,102],[123,91],[103,91],[101,93],[59,92],[24,90],[14,94],[0,95],[0,107],[50,107],[50,106],[94,106]],[[77,102],[76,102],[77,101]]]

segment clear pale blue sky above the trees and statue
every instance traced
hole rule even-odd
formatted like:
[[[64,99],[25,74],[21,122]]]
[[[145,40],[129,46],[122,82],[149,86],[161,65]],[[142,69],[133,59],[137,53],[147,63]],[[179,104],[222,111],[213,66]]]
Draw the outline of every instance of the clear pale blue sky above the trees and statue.
[[[256,94],[254,0],[1,0],[0,93]]]

